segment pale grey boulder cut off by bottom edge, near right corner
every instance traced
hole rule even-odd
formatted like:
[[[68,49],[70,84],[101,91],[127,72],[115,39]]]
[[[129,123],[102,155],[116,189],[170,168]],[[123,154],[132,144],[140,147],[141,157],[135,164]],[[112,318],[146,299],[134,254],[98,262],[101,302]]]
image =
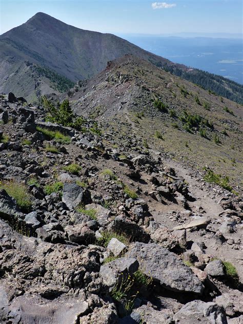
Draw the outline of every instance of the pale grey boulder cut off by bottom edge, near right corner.
[[[226,314],[215,302],[193,300],[173,317],[180,324],[227,324]]]

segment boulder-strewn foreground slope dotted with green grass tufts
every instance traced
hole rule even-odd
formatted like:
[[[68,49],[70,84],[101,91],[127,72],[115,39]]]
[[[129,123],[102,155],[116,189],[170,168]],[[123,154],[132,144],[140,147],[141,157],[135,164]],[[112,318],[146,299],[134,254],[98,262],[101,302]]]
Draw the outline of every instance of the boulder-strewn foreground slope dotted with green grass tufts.
[[[0,109],[1,323],[243,321],[241,278],[218,257],[241,252],[239,198],[197,179],[209,217],[139,139],[119,151],[109,129],[45,123],[13,94]]]

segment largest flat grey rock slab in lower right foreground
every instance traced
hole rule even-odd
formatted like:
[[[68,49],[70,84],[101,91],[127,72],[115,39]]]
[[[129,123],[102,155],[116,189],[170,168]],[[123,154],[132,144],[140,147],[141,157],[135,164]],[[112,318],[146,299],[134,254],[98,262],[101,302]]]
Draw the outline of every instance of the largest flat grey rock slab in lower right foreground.
[[[200,280],[183,261],[167,249],[155,243],[136,242],[128,251],[128,257],[136,258],[147,276],[158,280],[162,286],[178,292],[201,294],[204,290]]]

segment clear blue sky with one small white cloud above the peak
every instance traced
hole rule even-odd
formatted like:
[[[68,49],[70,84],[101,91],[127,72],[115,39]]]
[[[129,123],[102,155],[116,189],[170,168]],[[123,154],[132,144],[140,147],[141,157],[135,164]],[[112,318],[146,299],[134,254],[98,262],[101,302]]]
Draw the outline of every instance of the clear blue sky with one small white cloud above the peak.
[[[100,32],[242,33],[241,0],[0,0],[0,34],[39,11]]]

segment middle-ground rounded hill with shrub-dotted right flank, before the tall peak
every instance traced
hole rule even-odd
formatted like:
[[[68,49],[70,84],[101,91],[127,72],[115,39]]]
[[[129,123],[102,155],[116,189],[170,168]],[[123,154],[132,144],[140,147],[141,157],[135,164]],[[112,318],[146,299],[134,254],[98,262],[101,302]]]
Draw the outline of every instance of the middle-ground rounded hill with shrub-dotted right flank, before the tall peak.
[[[94,117],[111,129],[114,145],[140,138],[146,147],[165,152],[194,169],[209,166],[242,178],[242,107],[126,55],[69,92],[78,114]],[[160,104],[161,103],[161,104]]]

